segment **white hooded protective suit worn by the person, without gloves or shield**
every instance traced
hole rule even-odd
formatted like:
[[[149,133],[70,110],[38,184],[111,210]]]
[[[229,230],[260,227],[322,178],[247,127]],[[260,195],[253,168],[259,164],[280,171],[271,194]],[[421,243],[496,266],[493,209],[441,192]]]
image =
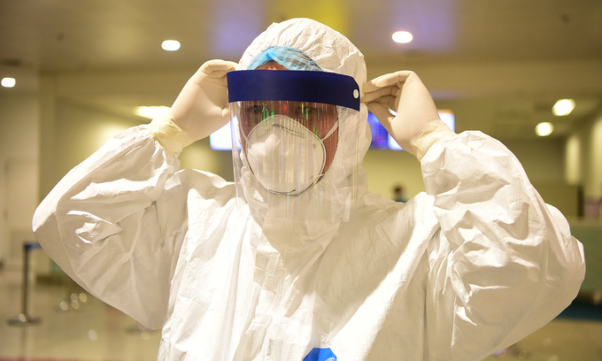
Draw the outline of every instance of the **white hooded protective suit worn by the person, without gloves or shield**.
[[[351,42],[310,20],[269,27],[243,68],[274,44],[366,81]],[[571,303],[583,247],[504,145],[445,136],[421,158],[426,193],[395,203],[367,193],[360,113],[345,119],[351,136],[332,165],[356,167],[357,201],[335,224],[263,232],[260,204],[237,207],[217,175],[176,172],[177,155],[140,126],[66,174],[35,212],[35,235],[92,295],[162,327],[161,360],[303,360],[316,348],[341,361],[480,360]]]

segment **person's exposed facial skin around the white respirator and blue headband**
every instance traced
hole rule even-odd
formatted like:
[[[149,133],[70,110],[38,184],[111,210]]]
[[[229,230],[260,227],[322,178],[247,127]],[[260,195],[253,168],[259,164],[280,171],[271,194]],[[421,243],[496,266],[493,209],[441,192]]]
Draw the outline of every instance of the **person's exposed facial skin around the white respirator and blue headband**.
[[[257,69],[288,70],[286,67],[275,61],[269,61],[265,65],[259,66]],[[330,131],[332,127],[335,127],[337,119],[336,105],[309,102],[245,102],[240,112],[240,127],[245,135],[248,135],[251,132],[251,129],[262,120],[274,115],[285,115],[297,120],[297,122],[322,139],[328,134],[328,131]],[[246,153],[244,137],[241,137],[241,142],[243,142],[243,151]],[[337,142],[338,129],[336,129],[333,134],[329,135],[327,139],[323,140],[324,148],[326,150],[324,172],[328,170],[335,157]]]

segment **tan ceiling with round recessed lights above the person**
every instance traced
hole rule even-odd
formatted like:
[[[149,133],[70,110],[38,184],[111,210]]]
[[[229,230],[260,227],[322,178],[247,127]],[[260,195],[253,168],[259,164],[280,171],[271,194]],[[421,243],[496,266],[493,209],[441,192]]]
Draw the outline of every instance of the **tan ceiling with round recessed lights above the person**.
[[[458,130],[525,139],[551,121],[563,137],[602,112],[600,0],[0,0],[0,78],[26,79],[0,96],[35,91],[39,73],[192,73],[294,17],[350,38],[369,78],[414,70]],[[392,42],[397,30],[413,42]],[[567,117],[552,115],[560,98],[575,99]]]

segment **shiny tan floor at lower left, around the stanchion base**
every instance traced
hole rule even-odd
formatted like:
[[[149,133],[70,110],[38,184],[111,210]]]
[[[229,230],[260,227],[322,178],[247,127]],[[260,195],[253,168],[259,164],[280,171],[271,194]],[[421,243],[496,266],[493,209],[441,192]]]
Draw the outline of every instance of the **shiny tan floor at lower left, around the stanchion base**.
[[[157,359],[160,331],[141,329],[134,319],[74,287],[36,285],[28,314],[40,324],[9,325],[21,311],[20,288],[20,273],[0,272],[0,360]]]

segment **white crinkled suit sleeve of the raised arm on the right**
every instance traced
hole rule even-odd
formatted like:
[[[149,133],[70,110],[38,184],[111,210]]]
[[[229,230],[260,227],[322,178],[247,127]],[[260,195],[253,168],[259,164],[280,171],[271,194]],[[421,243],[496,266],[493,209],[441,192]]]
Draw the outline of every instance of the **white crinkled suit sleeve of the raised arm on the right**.
[[[441,230],[431,242],[428,359],[482,359],[544,326],[575,298],[583,245],[480,132],[444,138],[421,161]]]

